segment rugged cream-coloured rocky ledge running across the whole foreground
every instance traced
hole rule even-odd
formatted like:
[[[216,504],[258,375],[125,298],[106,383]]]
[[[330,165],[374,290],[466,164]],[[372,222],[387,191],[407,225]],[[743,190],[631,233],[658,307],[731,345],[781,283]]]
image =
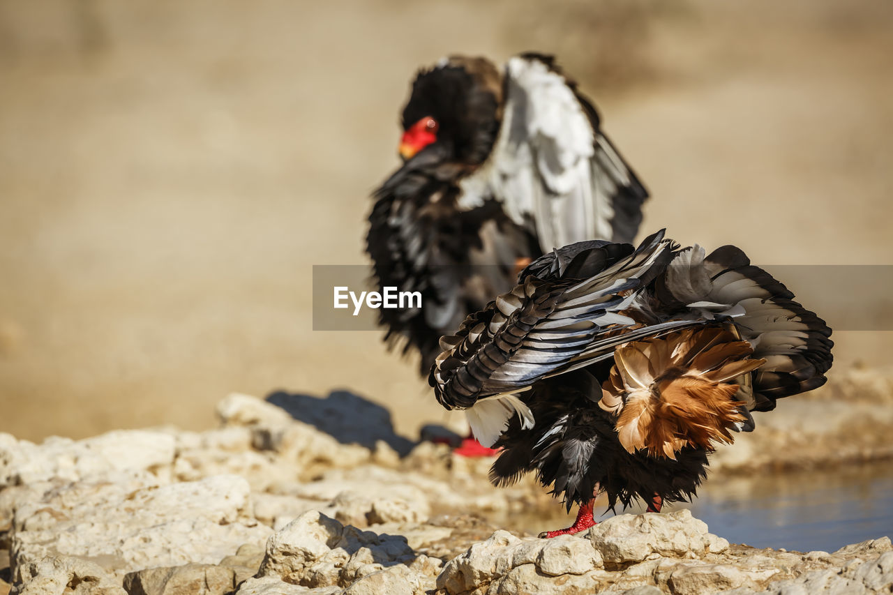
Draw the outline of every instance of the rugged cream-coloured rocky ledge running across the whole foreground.
[[[285,402],[218,413],[209,432],[0,434],[0,595],[893,592],[885,537],[753,549],[681,510],[539,540],[481,519],[555,506],[532,482],[492,488],[489,461],[387,432],[345,443]]]

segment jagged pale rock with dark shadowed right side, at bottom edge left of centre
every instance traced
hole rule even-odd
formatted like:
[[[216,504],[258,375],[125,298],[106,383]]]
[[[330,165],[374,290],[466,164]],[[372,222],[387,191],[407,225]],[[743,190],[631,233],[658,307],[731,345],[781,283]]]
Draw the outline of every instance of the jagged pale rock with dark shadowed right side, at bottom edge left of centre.
[[[397,565],[412,570],[420,577],[413,581],[420,583],[433,583],[439,567],[416,555],[403,537],[360,531],[312,511],[271,536],[257,577],[275,576],[310,588],[345,587]]]

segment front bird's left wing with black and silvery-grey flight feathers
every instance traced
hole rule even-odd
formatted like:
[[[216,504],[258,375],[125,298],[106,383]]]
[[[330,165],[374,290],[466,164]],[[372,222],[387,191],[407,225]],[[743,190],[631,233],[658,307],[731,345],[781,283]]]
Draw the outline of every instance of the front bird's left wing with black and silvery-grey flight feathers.
[[[663,271],[674,243],[663,232],[647,238],[634,252],[622,244],[577,245],[579,252],[542,256],[522,272],[522,283],[465,319],[453,336],[440,339],[443,353],[429,381],[438,401],[467,408],[481,399],[525,390],[542,378],[613,354],[605,331],[636,324],[627,312],[644,288]],[[668,328],[688,321],[673,321]],[[659,331],[654,326],[649,332]],[[631,331],[635,333],[635,331]],[[604,348],[597,348],[602,346]]]

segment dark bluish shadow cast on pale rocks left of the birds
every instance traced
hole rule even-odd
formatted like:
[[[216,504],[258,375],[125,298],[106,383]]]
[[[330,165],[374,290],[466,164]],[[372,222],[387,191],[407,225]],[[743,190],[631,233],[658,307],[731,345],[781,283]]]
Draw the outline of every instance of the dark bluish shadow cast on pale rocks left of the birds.
[[[333,390],[324,398],[277,390],[268,395],[266,401],[342,444],[375,448],[375,442],[382,440],[401,457],[415,445],[412,440],[394,432],[388,409],[348,390]]]

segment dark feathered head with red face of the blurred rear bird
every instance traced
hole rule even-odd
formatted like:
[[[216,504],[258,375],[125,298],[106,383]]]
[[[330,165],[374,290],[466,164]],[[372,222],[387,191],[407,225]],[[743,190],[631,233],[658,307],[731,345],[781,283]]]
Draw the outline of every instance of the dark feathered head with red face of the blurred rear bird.
[[[423,70],[403,110],[400,155],[437,152],[438,161],[480,165],[499,130],[502,75],[485,58],[454,56]]]

